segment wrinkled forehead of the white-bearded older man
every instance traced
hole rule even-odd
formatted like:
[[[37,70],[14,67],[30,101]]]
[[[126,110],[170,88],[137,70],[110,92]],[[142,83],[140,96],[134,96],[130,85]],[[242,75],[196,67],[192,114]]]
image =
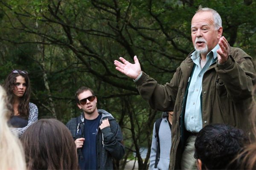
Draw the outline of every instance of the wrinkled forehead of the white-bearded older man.
[[[213,18],[212,12],[201,11],[201,12],[196,13],[191,20],[191,27],[195,27],[197,24],[213,25],[214,18]]]

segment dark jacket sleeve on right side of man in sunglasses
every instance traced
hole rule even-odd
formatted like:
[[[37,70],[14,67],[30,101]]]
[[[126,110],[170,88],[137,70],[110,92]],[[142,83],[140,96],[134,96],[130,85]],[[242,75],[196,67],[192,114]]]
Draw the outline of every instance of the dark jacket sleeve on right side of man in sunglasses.
[[[110,121],[111,127],[103,128],[104,147],[115,159],[122,159],[125,155],[121,128],[115,120]]]

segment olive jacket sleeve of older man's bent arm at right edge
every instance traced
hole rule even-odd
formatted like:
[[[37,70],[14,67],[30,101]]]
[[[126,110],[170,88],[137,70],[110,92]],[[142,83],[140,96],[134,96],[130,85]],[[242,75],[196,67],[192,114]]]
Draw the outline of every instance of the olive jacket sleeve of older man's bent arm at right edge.
[[[233,101],[241,101],[254,95],[256,73],[252,58],[240,48],[233,48],[224,64],[215,68],[228,96]]]

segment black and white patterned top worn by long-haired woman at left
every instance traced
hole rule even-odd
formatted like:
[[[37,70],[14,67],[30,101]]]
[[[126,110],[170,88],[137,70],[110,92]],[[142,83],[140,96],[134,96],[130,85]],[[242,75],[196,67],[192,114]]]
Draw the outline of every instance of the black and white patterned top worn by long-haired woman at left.
[[[37,108],[37,106],[34,103],[30,103],[29,102],[29,120],[28,120],[28,125],[26,125],[25,127],[20,127],[20,128],[12,128],[12,132],[17,134],[17,136],[20,138],[23,135],[23,133],[25,132],[25,130],[30,125],[35,123],[36,121],[38,121],[38,108]]]

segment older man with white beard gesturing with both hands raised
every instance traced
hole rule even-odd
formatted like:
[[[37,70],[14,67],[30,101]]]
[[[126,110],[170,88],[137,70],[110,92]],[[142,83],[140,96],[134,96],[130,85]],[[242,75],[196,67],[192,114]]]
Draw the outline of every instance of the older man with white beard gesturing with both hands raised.
[[[195,51],[166,85],[158,84],[141,71],[136,56],[134,64],[122,57],[122,62],[114,61],[116,70],[134,79],[151,108],[174,108],[170,169],[197,169],[193,157],[195,137],[206,125],[221,123],[250,132],[248,119],[254,104],[255,69],[248,54],[230,47],[222,37],[221,24],[215,10],[198,8],[191,21]]]

